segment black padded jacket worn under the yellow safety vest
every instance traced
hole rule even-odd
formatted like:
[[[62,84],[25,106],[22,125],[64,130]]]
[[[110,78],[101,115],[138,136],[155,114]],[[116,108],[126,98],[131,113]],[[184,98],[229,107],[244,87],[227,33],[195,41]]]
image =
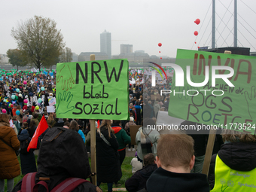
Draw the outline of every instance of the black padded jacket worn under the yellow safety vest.
[[[208,180],[210,188],[215,185],[215,160],[217,154],[212,156]],[[221,145],[218,157],[231,169],[248,172],[256,168],[256,143],[231,142]]]

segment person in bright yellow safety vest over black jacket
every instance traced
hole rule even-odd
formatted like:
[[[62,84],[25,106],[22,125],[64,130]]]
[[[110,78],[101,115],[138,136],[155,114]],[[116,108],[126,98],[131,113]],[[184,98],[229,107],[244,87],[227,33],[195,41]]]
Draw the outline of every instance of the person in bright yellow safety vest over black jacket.
[[[256,136],[233,130],[221,135],[224,145],[209,168],[211,191],[256,191]]]

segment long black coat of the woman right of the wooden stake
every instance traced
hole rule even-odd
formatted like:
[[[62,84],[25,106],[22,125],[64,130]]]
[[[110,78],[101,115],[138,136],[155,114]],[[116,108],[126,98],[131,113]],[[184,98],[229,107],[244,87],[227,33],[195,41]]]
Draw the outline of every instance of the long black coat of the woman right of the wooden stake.
[[[103,141],[99,133],[96,133],[97,181],[105,183],[117,182],[122,177],[119,154],[117,152],[118,142],[113,133],[109,138],[106,127],[101,127],[100,131],[111,146]]]

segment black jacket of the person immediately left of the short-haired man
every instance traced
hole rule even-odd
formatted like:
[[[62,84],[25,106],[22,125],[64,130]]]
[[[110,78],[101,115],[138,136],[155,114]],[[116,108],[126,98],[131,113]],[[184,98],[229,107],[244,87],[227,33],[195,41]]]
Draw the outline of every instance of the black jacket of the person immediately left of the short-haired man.
[[[128,178],[125,182],[126,190],[129,192],[136,192],[143,188],[146,188],[146,182],[151,176],[152,172],[157,169],[157,164],[151,164],[138,170],[133,174],[131,178]]]

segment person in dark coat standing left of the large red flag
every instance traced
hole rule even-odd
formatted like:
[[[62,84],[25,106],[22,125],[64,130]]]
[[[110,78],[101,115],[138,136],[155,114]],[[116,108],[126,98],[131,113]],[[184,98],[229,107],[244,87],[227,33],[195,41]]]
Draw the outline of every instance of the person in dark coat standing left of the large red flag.
[[[20,144],[22,142],[31,141],[31,137],[29,136],[28,130],[22,130],[20,135],[18,136]],[[21,146],[22,147],[22,146]],[[21,151],[20,152],[20,164],[21,164],[21,172],[23,175],[26,175],[29,172],[36,172],[36,164],[35,164],[35,155],[34,150],[30,149],[29,152]]]

